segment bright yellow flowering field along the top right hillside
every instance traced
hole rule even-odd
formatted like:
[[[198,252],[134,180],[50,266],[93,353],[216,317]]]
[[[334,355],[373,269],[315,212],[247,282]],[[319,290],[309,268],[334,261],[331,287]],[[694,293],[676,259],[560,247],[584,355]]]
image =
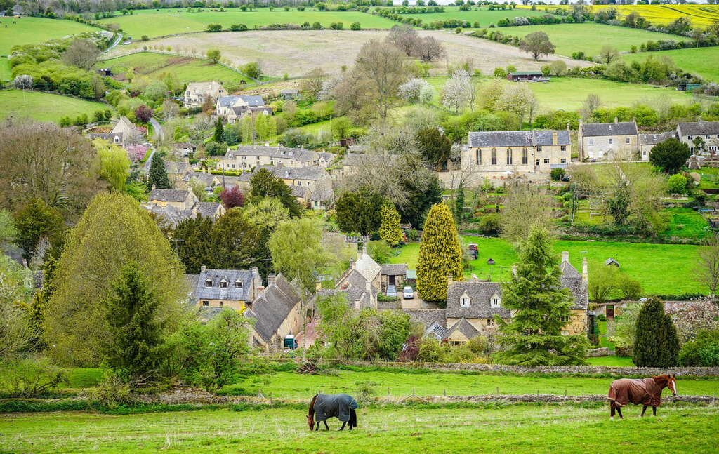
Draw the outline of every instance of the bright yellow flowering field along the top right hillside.
[[[551,12],[557,8],[570,8],[571,6],[548,5],[540,7],[542,11]],[[712,22],[719,20],[719,5],[595,5],[590,7],[593,11],[614,8],[617,10],[620,19],[623,19],[632,11],[636,11],[652,24],[669,24],[669,22],[679,19],[679,17],[688,16],[695,26],[708,27]],[[530,6],[518,6],[518,9],[523,8],[528,9]]]

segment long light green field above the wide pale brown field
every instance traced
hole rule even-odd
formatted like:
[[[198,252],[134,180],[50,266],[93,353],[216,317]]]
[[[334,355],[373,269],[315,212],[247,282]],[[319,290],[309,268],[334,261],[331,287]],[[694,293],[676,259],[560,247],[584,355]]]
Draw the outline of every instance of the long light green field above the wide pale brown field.
[[[239,8],[229,8],[225,12],[191,13],[185,9],[161,9],[160,11],[150,9],[134,11],[132,16],[128,14],[127,16],[102,19],[102,22],[119,24],[133,40],[139,40],[143,34],[152,38],[175,33],[201,32],[207,29],[207,24],[221,24],[224,28],[229,28],[233,24],[245,24],[250,29],[269,24],[301,25],[305,22],[310,24],[319,22],[325,28],[329,28],[332,22],[342,22],[346,29],[349,29],[352,22],[359,22],[362,28],[380,29],[390,29],[396,24],[389,19],[357,11],[284,11],[283,9],[270,11],[265,8],[245,12],[240,11]]]

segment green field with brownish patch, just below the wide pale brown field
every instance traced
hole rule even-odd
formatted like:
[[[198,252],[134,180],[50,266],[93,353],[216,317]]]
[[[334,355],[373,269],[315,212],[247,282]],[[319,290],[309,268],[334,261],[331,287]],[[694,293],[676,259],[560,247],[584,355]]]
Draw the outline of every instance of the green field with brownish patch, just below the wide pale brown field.
[[[98,68],[111,68],[113,74],[124,73],[129,68],[134,68],[135,73],[147,75],[150,78],[169,71],[177,75],[180,82],[222,80],[224,83],[239,83],[244,78],[242,74],[209,60],[153,52],[139,52],[125,57],[100,60],[97,66]]]

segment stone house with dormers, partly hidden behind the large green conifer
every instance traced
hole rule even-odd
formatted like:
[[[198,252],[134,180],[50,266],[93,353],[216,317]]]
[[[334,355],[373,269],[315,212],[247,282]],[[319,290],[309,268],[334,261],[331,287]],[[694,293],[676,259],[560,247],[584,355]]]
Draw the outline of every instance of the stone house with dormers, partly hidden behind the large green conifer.
[[[580,335],[587,332],[587,259],[582,261],[582,274],[569,263],[569,252],[562,252],[559,264],[562,270],[562,287],[572,291],[574,305],[572,315],[564,320],[562,335]],[[467,342],[467,335],[487,335],[495,329],[495,315],[510,321],[513,313],[502,306],[502,287],[497,282],[472,279],[469,282],[454,282],[448,278],[446,305],[446,332],[443,340],[451,343]],[[470,328],[470,326],[473,328]],[[453,328],[455,328],[453,330]],[[474,334],[472,334],[474,333]]]

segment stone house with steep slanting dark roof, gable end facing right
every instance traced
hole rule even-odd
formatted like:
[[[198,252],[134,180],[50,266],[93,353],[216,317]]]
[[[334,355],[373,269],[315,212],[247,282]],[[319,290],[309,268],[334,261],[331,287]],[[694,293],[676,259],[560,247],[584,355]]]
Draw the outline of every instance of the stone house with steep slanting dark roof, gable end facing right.
[[[255,319],[251,328],[252,346],[267,352],[281,351],[286,335],[302,331],[301,298],[282,274],[269,274],[267,287],[257,287],[257,296],[244,317]]]

